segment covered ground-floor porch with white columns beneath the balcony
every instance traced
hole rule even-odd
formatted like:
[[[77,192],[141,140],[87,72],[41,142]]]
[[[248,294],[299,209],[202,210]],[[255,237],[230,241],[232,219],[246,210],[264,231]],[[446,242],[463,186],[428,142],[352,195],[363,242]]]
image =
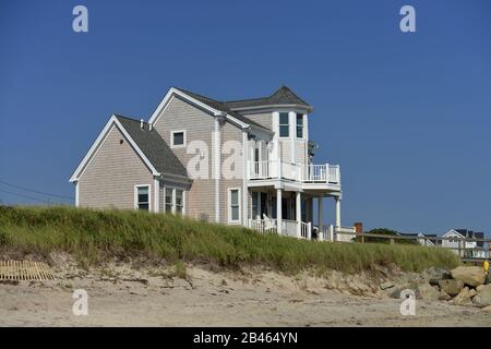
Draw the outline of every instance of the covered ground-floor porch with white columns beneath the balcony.
[[[324,198],[335,202],[334,227],[340,228],[340,193],[298,188],[249,188],[249,228],[299,239],[328,240]],[[316,221],[314,222],[314,202]],[[331,228],[333,229],[333,228]]]

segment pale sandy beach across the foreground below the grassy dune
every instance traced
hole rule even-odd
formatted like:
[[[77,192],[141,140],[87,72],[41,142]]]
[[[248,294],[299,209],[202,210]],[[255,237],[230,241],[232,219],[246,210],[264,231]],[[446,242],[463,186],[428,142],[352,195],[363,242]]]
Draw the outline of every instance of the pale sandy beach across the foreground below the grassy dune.
[[[111,273],[115,273],[113,270]],[[490,326],[474,306],[418,301],[416,316],[399,300],[327,290],[322,279],[275,273],[188,270],[189,280],[129,272],[63,275],[56,281],[0,284],[1,326]],[[76,275],[76,273],[75,273]],[[111,281],[117,278],[116,282]],[[137,280],[143,278],[147,284]],[[88,315],[72,314],[73,289],[87,291]]]

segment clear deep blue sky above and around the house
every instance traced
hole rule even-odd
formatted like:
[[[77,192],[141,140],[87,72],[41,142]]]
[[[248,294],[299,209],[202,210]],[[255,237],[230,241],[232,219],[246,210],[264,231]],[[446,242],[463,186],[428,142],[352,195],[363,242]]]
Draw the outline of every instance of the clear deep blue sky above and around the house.
[[[399,31],[404,4],[416,33]],[[0,181],[72,196],[111,113],[147,119],[169,86],[240,99],[286,84],[315,108],[315,163],[342,166],[344,225],[489,232],[490,13],[487,0],[2,0]]]

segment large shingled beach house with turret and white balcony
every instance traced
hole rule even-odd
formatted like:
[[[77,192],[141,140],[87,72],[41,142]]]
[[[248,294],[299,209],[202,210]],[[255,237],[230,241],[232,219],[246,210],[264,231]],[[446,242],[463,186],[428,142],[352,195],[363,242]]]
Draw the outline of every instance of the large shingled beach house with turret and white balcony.
[[[135,208],[310,238],[340,227],[339,166],[313,164],[313,108],[288,87],[218,101],[170,88],[148,122],[113,115],[70,181],[76,206]],[[233,176],[230,176],[233,174]]]

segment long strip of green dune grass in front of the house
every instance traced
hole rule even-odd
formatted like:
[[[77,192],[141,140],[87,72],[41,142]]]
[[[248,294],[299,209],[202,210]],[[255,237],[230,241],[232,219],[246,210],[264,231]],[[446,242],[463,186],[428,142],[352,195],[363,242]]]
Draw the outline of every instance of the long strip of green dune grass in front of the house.
[[[0,248],[44,256],[63,251],[85,265],[143,256],[227,267],[268,265],[286,273],[311,267],[356,273],[388,264],[420,272],[459,263],[438,248],[302,241],[172,215],[73,207],[0,206]]]

